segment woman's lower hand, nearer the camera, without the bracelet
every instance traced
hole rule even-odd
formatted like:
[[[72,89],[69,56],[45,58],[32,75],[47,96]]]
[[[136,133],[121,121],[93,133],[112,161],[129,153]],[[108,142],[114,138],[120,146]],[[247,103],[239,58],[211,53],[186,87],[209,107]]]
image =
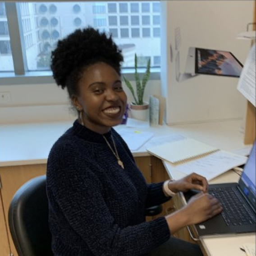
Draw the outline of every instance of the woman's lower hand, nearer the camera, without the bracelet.
[[[219,201],[208,193],[200,192],[190,198],[183,207],[188,216],[188,225],[197,224],[219,214],[222,206]]]

